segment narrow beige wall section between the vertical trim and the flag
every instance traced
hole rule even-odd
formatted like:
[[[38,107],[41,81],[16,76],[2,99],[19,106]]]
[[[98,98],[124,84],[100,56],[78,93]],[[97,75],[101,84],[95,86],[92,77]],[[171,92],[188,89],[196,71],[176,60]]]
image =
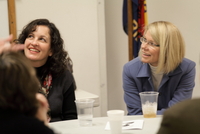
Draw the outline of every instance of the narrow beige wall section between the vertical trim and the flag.
[[[105,0],[108,109],[124,109],[122,69],[128,62],[128,37],[122,27],[123,0]]]

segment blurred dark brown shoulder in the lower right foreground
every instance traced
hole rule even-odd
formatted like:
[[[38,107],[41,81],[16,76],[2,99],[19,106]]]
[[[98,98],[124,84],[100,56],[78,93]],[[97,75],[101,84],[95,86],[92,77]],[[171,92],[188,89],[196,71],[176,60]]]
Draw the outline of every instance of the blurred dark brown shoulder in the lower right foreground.
[[[175,104],[164,112],[157,134],[199,134],[200,98]]]

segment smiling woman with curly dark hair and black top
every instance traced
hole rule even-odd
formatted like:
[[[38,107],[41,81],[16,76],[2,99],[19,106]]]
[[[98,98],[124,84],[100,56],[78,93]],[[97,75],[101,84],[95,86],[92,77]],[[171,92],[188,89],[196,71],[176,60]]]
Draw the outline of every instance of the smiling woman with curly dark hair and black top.
[[[59,30],[47,19],[27,24],[19,38],[24,54],[35,67],[50,110],[51,122],[77,119],[72,61]]]

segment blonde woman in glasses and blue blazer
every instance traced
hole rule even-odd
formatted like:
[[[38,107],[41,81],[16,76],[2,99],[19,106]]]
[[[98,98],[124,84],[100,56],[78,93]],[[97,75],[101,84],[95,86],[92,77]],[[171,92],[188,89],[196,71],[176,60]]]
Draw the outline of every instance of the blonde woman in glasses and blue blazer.
[[[190,99],[195,86],[195,62],[184,58],[185,43],[170,22],[147,25],[140,38],[139,57],[123,69],[124,100],[128,115],[142,114],[139,93],[159,92],[157,114],[177,102]]]

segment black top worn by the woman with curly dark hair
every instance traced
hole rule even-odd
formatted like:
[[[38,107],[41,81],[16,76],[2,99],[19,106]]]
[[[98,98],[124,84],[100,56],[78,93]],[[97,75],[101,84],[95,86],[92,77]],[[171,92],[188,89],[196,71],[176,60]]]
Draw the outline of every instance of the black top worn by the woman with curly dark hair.
[[[38,72],[41,68],[36,68],[39,78],[41,74]],[[77,119],[74,90],[74,78],[68,70],[52,78],[52,88],[47,96],[51,110],[51,122]]]

